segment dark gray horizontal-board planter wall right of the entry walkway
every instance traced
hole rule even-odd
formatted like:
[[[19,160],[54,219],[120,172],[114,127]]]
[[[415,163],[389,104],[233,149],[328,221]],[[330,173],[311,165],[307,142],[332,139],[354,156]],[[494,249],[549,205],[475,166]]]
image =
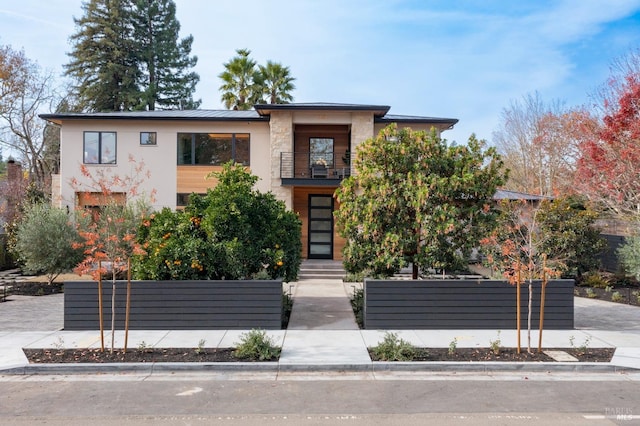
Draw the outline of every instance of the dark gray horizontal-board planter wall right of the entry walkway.
[[[573,280],[547,284],[545,329],[573,328]],[[534,283],[532,328],[538,329],[540,282]],[[493,280],[371,280],[364,283],[368,329],[516,329],[516,287]],[[522,286],[527,327],[528,286]]]

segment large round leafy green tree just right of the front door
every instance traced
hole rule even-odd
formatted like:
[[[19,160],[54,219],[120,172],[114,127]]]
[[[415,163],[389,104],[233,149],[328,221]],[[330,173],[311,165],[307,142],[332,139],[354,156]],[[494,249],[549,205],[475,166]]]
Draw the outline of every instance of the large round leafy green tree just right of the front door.
[[[449,145],[435,130],[389,125],[358,146],[355,175],[336,196],[349,272],[391,275],[457,269],[495,225],[492,203],[506,171],[495,149],[474,136]]]

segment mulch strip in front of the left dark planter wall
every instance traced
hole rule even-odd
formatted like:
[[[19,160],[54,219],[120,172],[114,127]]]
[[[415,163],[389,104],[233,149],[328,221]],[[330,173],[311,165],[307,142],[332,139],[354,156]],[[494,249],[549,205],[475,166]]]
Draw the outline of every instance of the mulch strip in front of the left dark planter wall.
[[[251,362],[249,359],[234,356],[233,348],[204,349],[195,348],[144,349],[130,348],[126,353],[122,349],[23,349],[31,364],[55,363],[111,363],[111,362]],[[277,361],[277,358],[269,361]]]

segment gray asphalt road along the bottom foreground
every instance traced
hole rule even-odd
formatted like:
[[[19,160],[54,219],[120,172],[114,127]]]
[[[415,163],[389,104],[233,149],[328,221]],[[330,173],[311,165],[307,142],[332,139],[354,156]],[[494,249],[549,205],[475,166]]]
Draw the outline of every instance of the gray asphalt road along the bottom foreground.
[[[624,374],[374,381],[6,376],[0,424],[634,425],[639,382]]]

